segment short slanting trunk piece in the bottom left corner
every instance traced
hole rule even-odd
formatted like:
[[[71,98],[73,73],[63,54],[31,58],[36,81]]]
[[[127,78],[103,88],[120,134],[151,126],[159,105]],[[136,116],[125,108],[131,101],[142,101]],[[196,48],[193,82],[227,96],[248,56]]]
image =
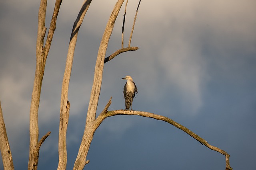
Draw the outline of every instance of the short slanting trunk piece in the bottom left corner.
[[[10,149],[6,128],[4,124],[1,101],[0,101],[0,150],[1,150],[4,170],[14,170],[13,161],[12,161],[12,152]]]

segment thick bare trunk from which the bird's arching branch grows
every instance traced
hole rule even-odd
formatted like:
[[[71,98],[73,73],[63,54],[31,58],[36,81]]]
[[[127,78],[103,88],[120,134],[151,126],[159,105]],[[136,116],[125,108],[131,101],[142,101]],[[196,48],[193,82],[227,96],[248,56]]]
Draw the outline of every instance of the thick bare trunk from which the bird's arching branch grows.
[[[110,15],[108,23],[106,25],[106,29],[103,33],[102,40],[100,43],[98,56],[95,65],[94,71],[94,81],[92,84],[92,91],[90,96],[90,102],[88,106],[88,112],[86,117],[86,127],[84,129],[84,135],[82,137],[82,142],[78,151],[78,155],[76,157],[76,161],[74,164],[73,170],[82,170],[86,163],[86,156],[88,154],[88,150],[90,147],[90,143],[92,142],[93,134],[92,126],[96,117],[96,110],[98,106],[98,99],[100,96],[100,88],[102,83],[102,74],[104,68],[104,58],[106,56],[106,50],[108,47],[108,42],[111,36],[111,33],[114,28],[114,23],[120,11],[120,8],[123,4],[124,0],[118,0],[114,9]]]

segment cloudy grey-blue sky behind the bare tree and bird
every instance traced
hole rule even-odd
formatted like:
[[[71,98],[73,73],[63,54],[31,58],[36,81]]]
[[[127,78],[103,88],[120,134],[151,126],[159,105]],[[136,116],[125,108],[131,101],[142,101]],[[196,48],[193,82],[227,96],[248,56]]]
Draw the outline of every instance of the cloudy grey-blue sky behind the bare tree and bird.
[[[83,1],[62,2],[46,61],[39,106],[38,170],[57,169],[60,93],[72,26]],[[93,0],[78,33],[68,100],[67,170],[81,143],[98,47],[116,0]],[[29,111],[36,66],[40,1],[0,2],[0,101],[14,168],[27,169]],[[125,2],[124,2],[125,4]],[[107,56],[121,48],[124,4]],[[124,46],[138,0],[126,11]],[[233,169],[253,169],[256,159],[256,1],[142,0],[131,46],[104,65],[97,115],[124,109],[126,75],[138,88],[133,109],[169,117],[230,154]],[[54,1],[48,1],[47,31]],[[108,117],[94,134],[87,170],[225,168],[225,156],[176,127],[155,119]],[[0,161],[0,169],[3,169]]]

